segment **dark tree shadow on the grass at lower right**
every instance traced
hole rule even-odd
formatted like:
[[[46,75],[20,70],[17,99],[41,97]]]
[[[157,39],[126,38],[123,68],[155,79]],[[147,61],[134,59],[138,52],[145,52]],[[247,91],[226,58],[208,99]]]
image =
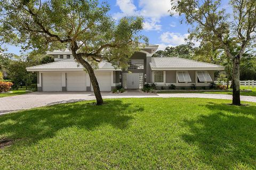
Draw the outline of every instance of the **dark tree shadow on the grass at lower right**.
[[[214,103],[206,107],[212,114],[186,120],[189,132],[182,136],[199,148],[199,161],[216,169],[255,168],[256,107]]]

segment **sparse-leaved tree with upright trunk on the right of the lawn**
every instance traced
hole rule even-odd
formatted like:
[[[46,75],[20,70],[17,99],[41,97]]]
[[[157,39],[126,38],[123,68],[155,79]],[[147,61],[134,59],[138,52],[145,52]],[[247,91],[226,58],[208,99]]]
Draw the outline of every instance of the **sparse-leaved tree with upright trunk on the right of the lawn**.
[[[256,1],[230,0],[233,13],[221,8],[221,0],[171,0],[172,11],[185,14],[188,24],[193,25],[190,36],[213,44],[220,44],[233,62],[233,105],[241,105],[239,90],[239,63],[246,47],[255,43]],[[174,12],[171,12],[171,15]],[[191,38],[190,37],[190,38]],[[228,41],[225,40],[228,37]],[[241,48],[232,54],[234,45]]]

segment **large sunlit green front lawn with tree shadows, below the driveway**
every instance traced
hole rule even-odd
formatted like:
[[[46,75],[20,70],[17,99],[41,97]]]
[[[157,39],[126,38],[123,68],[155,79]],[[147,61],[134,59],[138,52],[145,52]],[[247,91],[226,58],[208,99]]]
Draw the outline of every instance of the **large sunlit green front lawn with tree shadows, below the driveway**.
[[[126,98],[0,116],[0,169],[255,169],[256,103]]]

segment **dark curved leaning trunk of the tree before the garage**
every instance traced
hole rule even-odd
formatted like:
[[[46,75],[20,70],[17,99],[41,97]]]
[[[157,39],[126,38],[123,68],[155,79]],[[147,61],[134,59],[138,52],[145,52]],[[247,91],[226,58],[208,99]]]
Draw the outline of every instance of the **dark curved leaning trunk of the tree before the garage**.
[[[97,100],[97,105],[102,105],[103,104],[103,99],[102,99],[102,96],[101,96],[101,93],[100,93],[99,83],[98,83],[98,81],[95,77],[94,70],[92,69],[92,66],[88,62],[83,60],[82,57],[75,56],[74,54],[73,54],[73,56],[87,70],[87,72],[89,74],[89,77],[90,77],[90,80],[91,80],[91,83],[92,83],[93,92],[94,92],[94,95],[95,95],[96,100]]]

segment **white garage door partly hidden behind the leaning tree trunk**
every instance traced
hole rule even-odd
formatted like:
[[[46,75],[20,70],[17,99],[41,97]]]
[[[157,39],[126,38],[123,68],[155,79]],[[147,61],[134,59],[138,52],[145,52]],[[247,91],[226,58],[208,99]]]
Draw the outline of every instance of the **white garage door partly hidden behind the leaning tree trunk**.
[[[100,91],[111,91],[111,73],[97,73],[95,76],[98,80]],[[93,91],[92,84],[91,90]]]

